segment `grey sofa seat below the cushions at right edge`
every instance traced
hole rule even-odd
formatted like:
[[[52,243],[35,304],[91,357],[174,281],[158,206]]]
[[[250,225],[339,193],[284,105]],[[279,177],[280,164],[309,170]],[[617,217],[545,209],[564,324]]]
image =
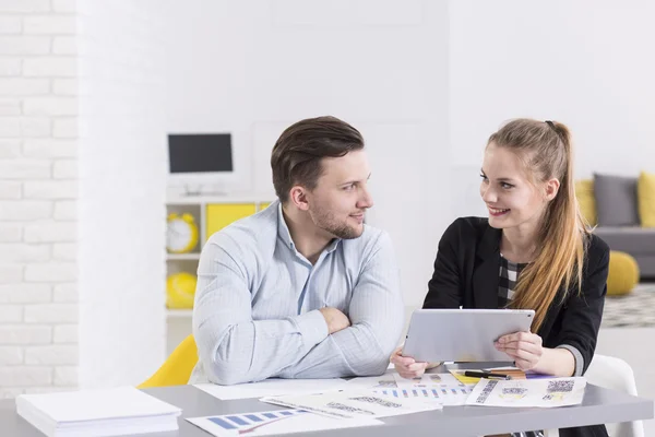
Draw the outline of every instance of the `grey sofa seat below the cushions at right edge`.
[[[611,250],[630,253],[639,264],[642,280],[655,279],[655,228],[640,226],[597,226],[594,234]]]

